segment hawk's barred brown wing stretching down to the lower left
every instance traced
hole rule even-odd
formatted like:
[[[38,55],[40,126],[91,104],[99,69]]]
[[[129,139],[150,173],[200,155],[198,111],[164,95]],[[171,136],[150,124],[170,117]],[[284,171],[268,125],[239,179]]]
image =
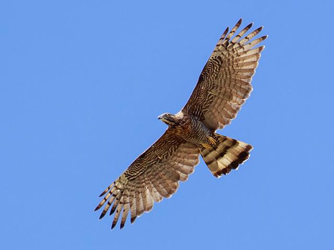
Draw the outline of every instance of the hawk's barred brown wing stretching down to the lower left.
[[[165,133],[100,195],[104,198],[95,211],[105,205],[100,219],[111,207],[115,211],[111,229],[121,217],[120,228],[131,213],[131,223],[149,212],[154,202],[168,198],[188,179],[199,163],[199,149],[167,129]],[[122,213],[122,215],[121,215]]]

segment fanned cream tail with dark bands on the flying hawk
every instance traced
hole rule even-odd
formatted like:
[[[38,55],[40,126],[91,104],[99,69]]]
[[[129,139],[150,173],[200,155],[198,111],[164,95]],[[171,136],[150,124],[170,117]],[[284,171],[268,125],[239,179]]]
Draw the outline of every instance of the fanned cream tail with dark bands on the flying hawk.
[[[200,148],[200,153],[212,174],[219,178],[245,162],[253,146],[227,136],[215,135],[217,144],[212,148]]]

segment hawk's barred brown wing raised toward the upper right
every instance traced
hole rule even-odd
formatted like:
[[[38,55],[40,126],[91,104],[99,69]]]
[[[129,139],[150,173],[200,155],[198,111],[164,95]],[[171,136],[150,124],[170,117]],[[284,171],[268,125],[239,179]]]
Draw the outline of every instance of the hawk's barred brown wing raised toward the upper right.
[[[183,108],[183,111],[196,116],[212,130],[230,124],[249,97],[253,89],[252,77],[264,49],[264,46],[254,46],[267,38],[262,36],[249,42],[263,27],[242,38],[253,23],[233,37],[241,21],[229,33],[226,28]]]

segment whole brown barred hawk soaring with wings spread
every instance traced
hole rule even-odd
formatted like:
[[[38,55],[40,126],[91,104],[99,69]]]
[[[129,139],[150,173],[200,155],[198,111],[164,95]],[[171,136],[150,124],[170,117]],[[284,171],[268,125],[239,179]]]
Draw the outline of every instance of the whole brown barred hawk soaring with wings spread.
[[[105,205],[102,219],[111,208],[110,215],[115,213],[111,229],[119,218],[123,228],[129,213],[133,223],[154,202],[175,193],[179,181],[194,171],[199,156],[218,178],[249,158],[252,145],[216,133],[230,124],[249,97],[264,49],[254,46],[267,38],[254,38],[263,27],[248,32],[253,23],[235,35],[241,21],[224,31],[184,108],[158,117],[168,125],[164,134],[101,193],[104,197],[95,211]]]

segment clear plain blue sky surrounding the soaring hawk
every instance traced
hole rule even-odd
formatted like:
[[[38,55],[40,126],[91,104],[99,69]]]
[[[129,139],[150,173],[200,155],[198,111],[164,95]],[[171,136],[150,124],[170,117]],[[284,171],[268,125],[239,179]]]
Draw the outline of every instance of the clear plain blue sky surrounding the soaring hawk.
[[[2,1],[2,249],[334,249],[329,1]],[[221,134],[254,145],[216,179],[110,230],[98,194],[186,103],[226,26],[264,25],[254,91]]]

